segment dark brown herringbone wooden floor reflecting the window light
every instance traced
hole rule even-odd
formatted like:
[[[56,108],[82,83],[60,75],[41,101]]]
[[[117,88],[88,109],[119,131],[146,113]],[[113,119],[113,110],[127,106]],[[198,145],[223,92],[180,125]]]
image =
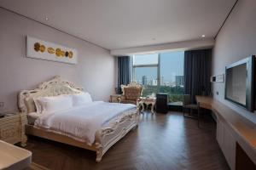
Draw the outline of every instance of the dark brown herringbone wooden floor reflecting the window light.
[[[229,169],[215,139],[216,124],[196,121],[178,112],[141,115],[138,128],[108,150],[100,163],[90,150],[29,137],[32,161],[49,169]]]

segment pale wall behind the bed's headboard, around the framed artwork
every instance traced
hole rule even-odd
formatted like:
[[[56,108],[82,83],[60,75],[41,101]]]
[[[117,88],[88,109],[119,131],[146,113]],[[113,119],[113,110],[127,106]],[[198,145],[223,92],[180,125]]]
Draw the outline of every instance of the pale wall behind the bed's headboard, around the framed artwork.
[[[93,99],[109,99],[115,87],[115,59],[109,50],[0,8],[0,111],[17,110],[17,94],[60,75]],[[78,65],[26,58],[26,35],[78,50]]]

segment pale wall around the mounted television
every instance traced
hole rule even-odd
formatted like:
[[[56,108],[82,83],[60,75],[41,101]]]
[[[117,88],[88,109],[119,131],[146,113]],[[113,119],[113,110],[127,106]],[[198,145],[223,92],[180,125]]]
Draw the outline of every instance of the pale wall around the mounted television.
[[[256,1],[239,0],[216,38],[213,48],[212,75],[224,73],[225,65],[256,54]],[[214,98],[256,123],[251,113],[224,100],[224,83],[213,83]],[[218,95],[216,94],[218,92]]]

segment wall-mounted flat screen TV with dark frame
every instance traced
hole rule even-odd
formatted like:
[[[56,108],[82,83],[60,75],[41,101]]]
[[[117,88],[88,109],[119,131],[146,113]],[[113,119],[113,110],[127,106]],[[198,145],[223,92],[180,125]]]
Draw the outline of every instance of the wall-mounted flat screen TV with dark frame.
[[[254,110],[254,61],[252,55],[225,68],[225,99],[236,105]]]

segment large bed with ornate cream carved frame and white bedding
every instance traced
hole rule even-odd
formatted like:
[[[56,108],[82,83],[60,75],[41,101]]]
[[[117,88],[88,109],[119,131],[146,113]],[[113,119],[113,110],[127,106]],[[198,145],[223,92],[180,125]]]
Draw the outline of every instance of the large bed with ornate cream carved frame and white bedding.
[[[51,115],[47,114],[47,116],[40,116],[40,114],[37,113],[37,108],[34,103],[35,98],[82,93],[84,93],[83,88],[76,87],[72,82],[63,81],[61,77],[54,77],[48,82],[41,83],[38,88],[34,90],[21,91],[18,96],[18,105],[20,111],[26,113],[28,117],[26,134],[64,144],[71,144],[87,150],[93,150],[96,152],[96,162],[99,162],[113,144],[118,142],[119,139],[122,139],[132,128],[138,126],[139,112],[135,105],[112,104],[97,101],[90,105],[82,105],[65,111],[56,111]],[[98,108],[98,110],[95,108]],[[83,114],[81,114],[81,111]],[[85,119],[83,118],[86,114],[90,116],[90,119],[88,119],[92,120],[91,122],[93,123],[84,121],[86,117]],[[77,123],[79,127],[75,127],[74,124],[76,123],[73,122],[82,119],[83,122]],[[41,122],[41,124],[39,122]],[[86,131],[84,131],[84,129],[80,130],[79,133],[75,133],[75,135],[69,131],[66,133],[66,131],[61,131],[62,128],[55,128],[57,127],[55,123],[67,124],[67,126],[73,130],[71,130],[71,132],[74,132],[74,130],[77,132],[78,129],[85,127]],[[44,126],[42,124],[44,124]],[[63,127],[63,129],[65,130],[67,127]],[[90,135],[85,137],[86,135],[83,135],[84,132],[90,133]],[[93,134],[93,139],[91,138],[91,134]],[[82,137],[84,137],[84,139]]]

